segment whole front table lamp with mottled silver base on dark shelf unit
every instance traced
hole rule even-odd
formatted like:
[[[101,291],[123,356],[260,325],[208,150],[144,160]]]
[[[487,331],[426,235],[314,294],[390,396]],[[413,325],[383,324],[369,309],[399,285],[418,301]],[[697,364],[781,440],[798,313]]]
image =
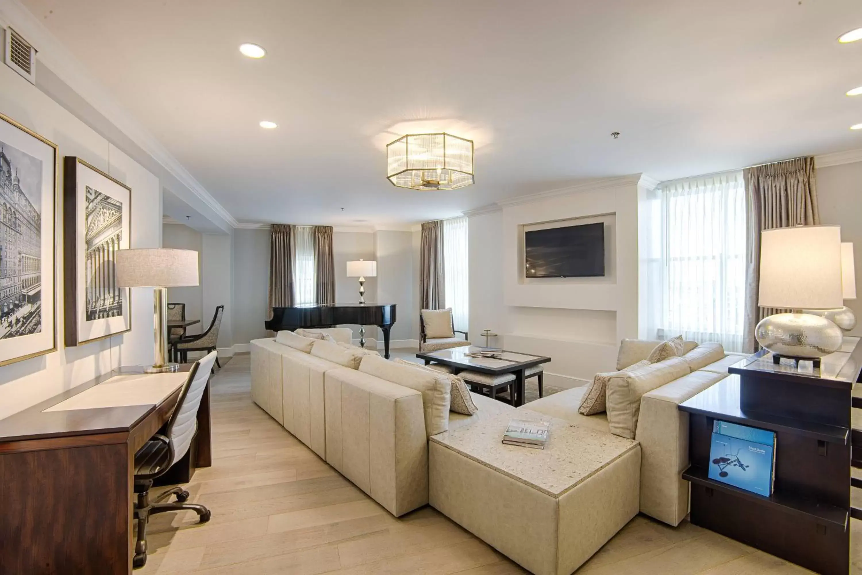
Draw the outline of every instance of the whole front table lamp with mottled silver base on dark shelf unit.
[[[781,358],[820,358],[841,347],[841,330],[825,317],[803,309],[841,306],[841,228],[799,226],[764,230],[760,234],[760,288],[758,305],[789,308],[790,313],[760,320],[754,336]]]

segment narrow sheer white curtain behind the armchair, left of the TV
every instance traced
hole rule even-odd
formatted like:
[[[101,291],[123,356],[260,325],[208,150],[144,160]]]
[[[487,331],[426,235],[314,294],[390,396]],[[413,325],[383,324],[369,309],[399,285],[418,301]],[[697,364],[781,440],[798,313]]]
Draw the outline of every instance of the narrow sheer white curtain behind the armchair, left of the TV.
[[[446,307],[452,308],[455,329],[467,331],[470,323],[470,282],[467,271],[467,218],[443,220],[443,269]]]

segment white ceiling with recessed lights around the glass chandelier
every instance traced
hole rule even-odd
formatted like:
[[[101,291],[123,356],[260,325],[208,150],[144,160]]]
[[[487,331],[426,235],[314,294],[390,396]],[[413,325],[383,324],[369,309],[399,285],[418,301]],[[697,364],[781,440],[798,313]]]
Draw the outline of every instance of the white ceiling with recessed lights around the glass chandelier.
[[[862,41],[835,41],[859,0],[23,3],[240,222],[420,222],[862,147]],[[385,143],[440,130],[476,142],[476,184],[389,184]]]

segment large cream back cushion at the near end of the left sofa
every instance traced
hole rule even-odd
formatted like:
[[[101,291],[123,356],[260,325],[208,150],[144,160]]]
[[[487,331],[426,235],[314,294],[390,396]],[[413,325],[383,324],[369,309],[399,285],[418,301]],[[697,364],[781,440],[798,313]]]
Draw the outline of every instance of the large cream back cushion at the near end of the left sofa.
[[[374,355],[362,358],[359,371],[422,393],[425,432],[429,437],[449,427],[450,384],[444,374],[399,366]]]

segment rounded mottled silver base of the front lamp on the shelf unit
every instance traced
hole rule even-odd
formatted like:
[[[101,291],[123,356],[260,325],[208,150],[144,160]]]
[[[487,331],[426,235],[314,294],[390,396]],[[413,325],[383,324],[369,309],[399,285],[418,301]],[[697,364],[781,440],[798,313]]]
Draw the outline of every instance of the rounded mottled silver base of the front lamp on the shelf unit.
[[[763,318],[754,337],[772,353],[791,359],[820,359],[838,351],[844,339],[833,322],[801,311]]]

